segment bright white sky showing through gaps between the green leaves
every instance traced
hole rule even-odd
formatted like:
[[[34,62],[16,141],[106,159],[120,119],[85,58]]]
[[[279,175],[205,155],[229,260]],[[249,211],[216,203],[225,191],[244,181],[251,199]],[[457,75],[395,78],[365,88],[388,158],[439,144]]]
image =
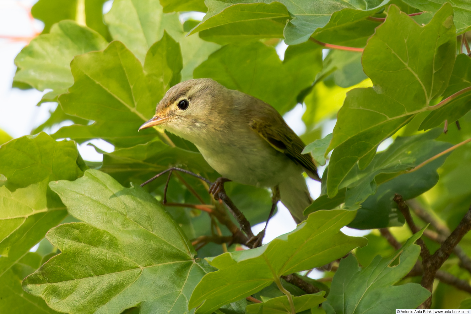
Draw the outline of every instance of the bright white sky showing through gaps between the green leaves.
[[[32,37],[41,32],[43,24],[41,21],[32,20],[29,16],[29,10],[36,0],[1,0],[0,1],[0,129],[6,131],[12,137],[21,137],[30,134],[31,130],[49,117],[49,110],[54,109],[57,104],[46,103],[40,107],[36,104],[40,101],[46,91],[41,92],[35,89],[19,90],[12,89],[11,84],[15,75],[16,66],[14,64],[15,56],[28,43],[28,40],[18,39],[19,37]],[[105,11],[111,8],[111,1],[105,3]],[[202,17],[202,14],[191,15],[191,17]],[[182,18],[187,16],[182,16]],[[185,18],[185,19],[186,19]],[[16,37],[16,38],[12,38]],[[284,51],[287,45],[284,42],[276,47],[280,59],[284,57]],[[327,53],[325,49],[324,55]],[[288,125],[298,134],[306,130],[306,126],[301,120],[305,107],[297,105],[292,111],[286,113],[284,118]],[[335,121],[325,123],[323,128],[323,137],[332,132]],[[51,130],[54,133],[57,129]],[[105,141],[92,141],[99,148],[112,152],[114,147]],[[101,161],[102,155],[95,152],[87,143],[79,145],[79,151],[82,157],[90,161]],[[320,167],[319,176],[325,167]],[[151,174],[149,174],[150,176]],[[308,186],[311,196],[315,199],[320,194],[320,183],[308,179]],[[269,209],[267,208],[267,216]],[[264,224],[253,226],[255,234],[263,229]],[[279,203],[277,214],[270,220],[264,243],[267,243],[278,235],[292,231],[296,224],[283,204]],[[349,235],[364,235],[369,231],[359,231],[342,228],[344,233]],[[312,277],[321,277],[316,272],[311,273]]]

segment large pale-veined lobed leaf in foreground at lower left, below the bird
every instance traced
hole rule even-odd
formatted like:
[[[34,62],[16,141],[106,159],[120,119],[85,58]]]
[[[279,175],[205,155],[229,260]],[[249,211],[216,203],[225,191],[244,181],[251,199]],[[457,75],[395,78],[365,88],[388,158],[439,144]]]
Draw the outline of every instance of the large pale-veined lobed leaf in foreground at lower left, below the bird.
[[[83,222],[49,231],[62,253],[28,276],[25,290],[68,313],[119,314],[138,304],[141,314],[187,313],[207,267],[195,261],[188,239],[152,196],[97,170],[50,187]]]

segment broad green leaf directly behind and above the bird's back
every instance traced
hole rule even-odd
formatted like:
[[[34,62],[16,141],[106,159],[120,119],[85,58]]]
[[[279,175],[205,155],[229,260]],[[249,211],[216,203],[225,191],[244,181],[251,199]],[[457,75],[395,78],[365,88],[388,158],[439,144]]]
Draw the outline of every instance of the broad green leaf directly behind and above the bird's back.
[[[198,66],[194,76],[212,78],[285,113],[297,103],[299,92],[314,81],[321,62],[321,49],[312,42],[288,47],[284,61],[274,48],[254,42],[224,46]]]

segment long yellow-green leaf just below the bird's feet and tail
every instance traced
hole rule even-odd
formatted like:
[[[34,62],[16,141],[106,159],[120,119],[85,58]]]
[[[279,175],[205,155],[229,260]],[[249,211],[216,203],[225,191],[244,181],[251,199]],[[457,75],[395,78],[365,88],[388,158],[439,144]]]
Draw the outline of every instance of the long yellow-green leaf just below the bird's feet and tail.
[[[317,211],[294,231],[267,245],[208,259],[219,270],[204,276],[191,296],[189,307],[203,303],[195,313],[210,314],[219,306],[267,287],[283,274],[325,265],[357,246],[364,246],[364,238],[349,237],[339,231],[354,216],[354,211]]]

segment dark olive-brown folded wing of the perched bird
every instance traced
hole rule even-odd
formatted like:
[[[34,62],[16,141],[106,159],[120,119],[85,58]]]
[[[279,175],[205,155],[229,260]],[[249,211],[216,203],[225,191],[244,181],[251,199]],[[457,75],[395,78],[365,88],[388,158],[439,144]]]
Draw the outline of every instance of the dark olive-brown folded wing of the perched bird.
[[[273,110],[275,111],[275,109]],[[312,156],[310,154],[301,154],[305,146],[304,143],[296,133],[288,127],[279,113],[276,112],[276,116],[267,114],[263,119],[260,117],[252,117],[250,126],[260,137],[273,146],[273,148],[284,153],[292,161],[304,168],[309,177],[320,181],[317,174],[317,167],[314,164]]]

